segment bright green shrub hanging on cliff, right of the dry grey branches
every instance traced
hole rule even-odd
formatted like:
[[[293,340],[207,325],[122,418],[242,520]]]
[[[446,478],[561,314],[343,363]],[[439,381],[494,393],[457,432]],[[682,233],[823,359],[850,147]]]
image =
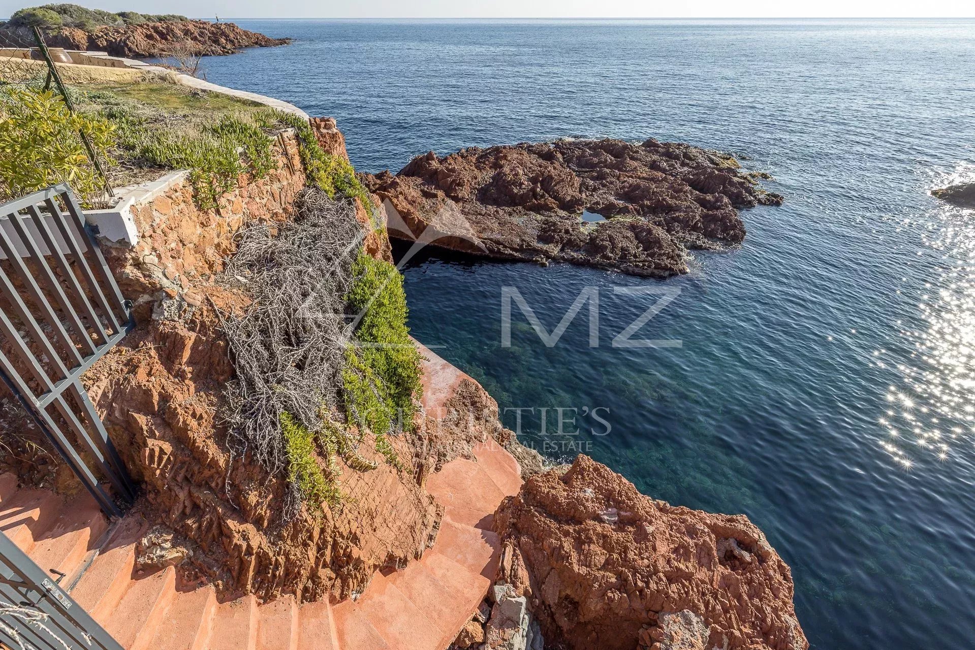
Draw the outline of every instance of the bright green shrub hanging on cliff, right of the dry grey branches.
[[[392,264],[362,251],[352,272],[346,301],[361,318],[355,331],[359,345],[346,350],[342,374],[346,418],[349,425],[369,428],[376,449],[398,464],[385,437],[398,427],[412,429],[423,392],[420,355],[409,338],[403,276]]]

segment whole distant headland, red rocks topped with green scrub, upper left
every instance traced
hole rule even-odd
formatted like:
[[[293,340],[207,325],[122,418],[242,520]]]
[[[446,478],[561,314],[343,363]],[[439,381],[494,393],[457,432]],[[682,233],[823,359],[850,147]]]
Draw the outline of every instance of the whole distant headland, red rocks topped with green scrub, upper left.
[[[241,48],[290,42],[242,29],[233,22],[136,12],[113,14],[70,4],[21,9],[0,24],[0,40],[7,47],[32,47],[34,26],[41,28],[50,47],[107,52],[113,57],[165,57],[177,50],[198,56],[231,55]]]

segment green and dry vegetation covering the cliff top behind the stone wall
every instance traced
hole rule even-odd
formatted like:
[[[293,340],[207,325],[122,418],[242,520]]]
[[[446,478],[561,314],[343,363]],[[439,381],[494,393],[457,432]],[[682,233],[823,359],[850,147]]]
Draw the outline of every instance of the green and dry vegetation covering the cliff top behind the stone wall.
[[[272,136],[288,128],[281,113],[260,104],[172,84],[68,91],[76,113],[39,86],[0,91],[0,192],[5,196],[69,182],[84,203],[97,203],[103,180],[86,155],[78,135],[84,133],[110,184],[186,169],[199,206],[214,209],[242,173],[261,178],[273,169]]]

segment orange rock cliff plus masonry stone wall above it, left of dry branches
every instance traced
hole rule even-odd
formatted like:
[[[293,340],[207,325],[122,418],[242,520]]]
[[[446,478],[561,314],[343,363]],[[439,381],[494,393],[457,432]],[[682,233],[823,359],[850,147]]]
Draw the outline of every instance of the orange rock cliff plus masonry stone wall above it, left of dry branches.
[[[223,392],[234,368],[216,310],[243,310],[251,300],[216,277],[240,229],[288,218],[305,183],[293,136],[273,151],[277,169],[241,176],[218,210],[199,209],[188,184],[176,183],[134,209],[136,247],[102,247],[135,303],[137,326],[83,380],[141,484],[137,515],[161,526],[143,540],[140,565],[176,564],[182,581],[206,581],[219,593],[346,598],[364,591],[377,568],[422,554],[441,509],[415,468],[382,462],[367,436],[364,464],[336,461],[347,500],[283,521],[287,480],[226,444]],[[408,465],[417,436],[390,439]]]

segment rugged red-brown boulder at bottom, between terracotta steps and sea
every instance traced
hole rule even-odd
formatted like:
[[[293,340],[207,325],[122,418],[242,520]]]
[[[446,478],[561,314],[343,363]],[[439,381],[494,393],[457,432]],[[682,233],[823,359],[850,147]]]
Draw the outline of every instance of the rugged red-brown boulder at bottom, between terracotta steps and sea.
[[[498,582],[547,648],[805,650],[788,565],[746,516],[643,496],[587,456],[529,478],[494,516]]]

